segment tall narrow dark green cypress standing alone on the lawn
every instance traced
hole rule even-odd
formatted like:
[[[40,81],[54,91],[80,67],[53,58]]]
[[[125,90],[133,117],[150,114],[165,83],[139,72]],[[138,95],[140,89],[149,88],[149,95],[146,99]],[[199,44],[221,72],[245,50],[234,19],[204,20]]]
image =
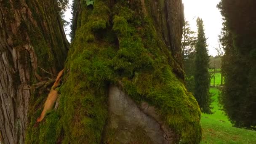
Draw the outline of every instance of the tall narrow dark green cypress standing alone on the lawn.
[[[202,112],[211,113],[211,95],[209,94],[210,75],[209,56],[203,29],[203,20],[197,18],[197,43],[195,45],[195,98]]]

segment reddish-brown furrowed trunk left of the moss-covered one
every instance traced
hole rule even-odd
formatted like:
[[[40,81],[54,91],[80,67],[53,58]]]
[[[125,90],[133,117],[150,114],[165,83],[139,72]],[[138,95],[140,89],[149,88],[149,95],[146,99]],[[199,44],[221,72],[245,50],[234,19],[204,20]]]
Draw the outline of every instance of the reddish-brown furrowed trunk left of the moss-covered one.
[[[24,143],[32,96],[26,88],[35,82],[37,66],[53,73],[63,67],[64,37],[56,1],[0,0],[0,132],[5,144]]]

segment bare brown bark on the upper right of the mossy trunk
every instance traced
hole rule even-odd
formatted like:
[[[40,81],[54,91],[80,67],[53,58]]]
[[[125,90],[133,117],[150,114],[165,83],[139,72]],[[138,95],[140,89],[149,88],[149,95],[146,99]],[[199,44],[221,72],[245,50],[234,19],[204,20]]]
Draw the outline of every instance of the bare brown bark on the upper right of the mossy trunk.
[[[182,0],[149,0],[149,3],[148,9],[155,19],[157,32],[163,37],[176,62],[183,67],[181,37],[184,24],[184,5]]]

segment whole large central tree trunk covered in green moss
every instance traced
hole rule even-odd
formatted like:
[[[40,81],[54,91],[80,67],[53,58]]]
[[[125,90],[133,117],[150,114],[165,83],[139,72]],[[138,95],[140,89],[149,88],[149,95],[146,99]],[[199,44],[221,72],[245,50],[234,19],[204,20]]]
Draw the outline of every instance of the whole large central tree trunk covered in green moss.
[[[200,109],[184,87],[181,0],[75,0],[75,37],[56,111],[27,143],[199,143]]]

